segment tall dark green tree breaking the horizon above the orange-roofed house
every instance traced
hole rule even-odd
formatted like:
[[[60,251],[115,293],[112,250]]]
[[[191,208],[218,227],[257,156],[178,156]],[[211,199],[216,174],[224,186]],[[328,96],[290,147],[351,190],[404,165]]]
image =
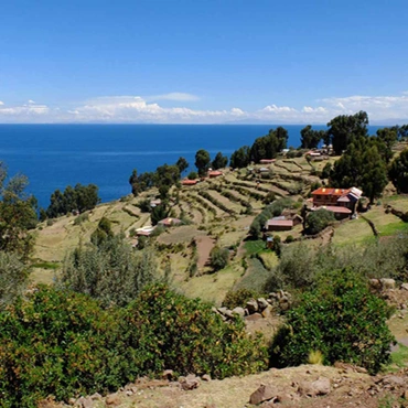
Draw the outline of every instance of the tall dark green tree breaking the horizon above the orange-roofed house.
[[[341,154],[343,150],[357,137],[367,136],[368,115],[361,110],[355,115],[340,115],[329,124],[328,136],[333,143],[333,150]]]

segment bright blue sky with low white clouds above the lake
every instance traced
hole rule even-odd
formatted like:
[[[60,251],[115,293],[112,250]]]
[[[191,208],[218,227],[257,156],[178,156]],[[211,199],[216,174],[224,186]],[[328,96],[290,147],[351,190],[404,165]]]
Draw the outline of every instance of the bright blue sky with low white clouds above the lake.
[[[1,1],[0,124],[408,122],[406,0]]]

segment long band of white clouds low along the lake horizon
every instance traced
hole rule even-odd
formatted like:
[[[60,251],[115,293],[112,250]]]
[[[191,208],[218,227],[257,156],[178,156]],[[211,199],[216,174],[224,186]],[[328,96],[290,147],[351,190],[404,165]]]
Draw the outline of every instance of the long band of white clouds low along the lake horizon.
[[[167,95],[186,98],[185,95],[190,94]],[[352,95],[324,98],[319,100],[318,105],[308,104],[300,108],[272,103],[253,111],[239,107],[218,110],[192,109],[182,106],[181,99],[174,104],[178,106],[163,107],[157,100],[148,100],[140,96],[98,97],[69,109],[61,106],[50,108],[33,100],[20,106],[6,106],[0,103],[0,122],[325,124],[337,115],[350,115],[358,110],[366,110],[372,122],[388,119],[391,121],[396,119],[397,122],[397,119],[408,118],[408,94],[405,93],[396,96]]]

